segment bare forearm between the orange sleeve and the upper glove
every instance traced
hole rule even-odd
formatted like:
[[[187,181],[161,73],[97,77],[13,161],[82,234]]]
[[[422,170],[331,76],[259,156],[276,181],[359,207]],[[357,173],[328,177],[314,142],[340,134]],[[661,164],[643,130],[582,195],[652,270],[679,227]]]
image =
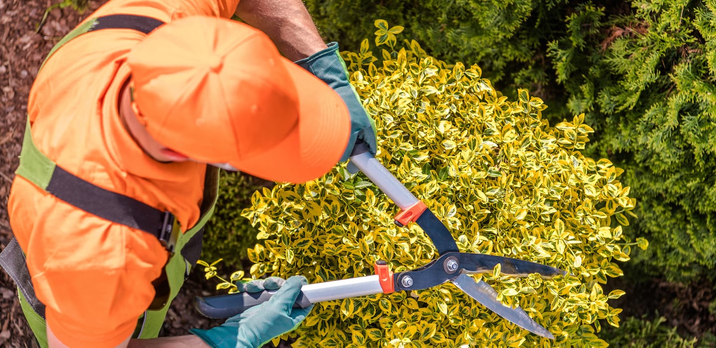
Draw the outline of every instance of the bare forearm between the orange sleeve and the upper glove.
[[[269,35],[279,51],[293,61],[326,48],[301,0],[241,0],[236,16]]]

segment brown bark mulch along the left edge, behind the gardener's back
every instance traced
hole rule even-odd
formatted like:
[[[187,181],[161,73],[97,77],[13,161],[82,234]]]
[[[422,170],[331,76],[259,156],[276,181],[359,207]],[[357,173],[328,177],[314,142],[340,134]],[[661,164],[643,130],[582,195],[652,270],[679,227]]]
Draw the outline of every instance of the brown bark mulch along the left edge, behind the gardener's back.
[[[52,24],[42,34],[35,32],[49,4],[44,1],[0,0],[0,246],[12,238],[7,218],[7,198],[18,164],[24,130],[26,101],[42,59],[52,48],[45,39],[57,29],[67,29],[71,16]],[[74,15],[77,18],[77,15]],[[64,24],[64,28],[62,25]],[[52,31],[52,32],[51,32]],[[0,347],[30,347],[32,332],[27,326],[10,277],[0,271]]]

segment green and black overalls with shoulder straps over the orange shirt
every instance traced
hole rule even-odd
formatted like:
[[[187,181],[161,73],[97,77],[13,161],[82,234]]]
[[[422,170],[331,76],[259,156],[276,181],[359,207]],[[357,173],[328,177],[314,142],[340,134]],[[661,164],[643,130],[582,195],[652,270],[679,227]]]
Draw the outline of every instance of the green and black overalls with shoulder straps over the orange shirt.
[[[148,34],[162,21],[145,16],[116,14],[100,16],[86,21],[69,32],[49,52],[47,59],[69,40],[81,34],[100,29],[135,29]],[[218,168],[207,166],[201,216],[195,226],[181,232],[173,216],[158,211],[139,200],[113,193],[68,173],[43,155],[34,145],[29,121],[27,123],[20,165],[16,175],[26,178],[46,192],[57,196],[73,206],[132,228],[152,233],[170,252],[163,274],[155,281],[157,295],[150,308],[138,319],[133,338],[158,337],[171,301],[178,294],[191,267],[198,261],[201,251],[203,226],[211,217],[216,204],[218,190]],[[22,311],[40,347],[47,347],[47,324],[44,319],[44,305],[35,297],[32,281],[27,270],[25,256],[17,241],[13,240],[0,255],[0,266],[10,274],[18,285]],[[78,295],[79,296],[79,295]]]

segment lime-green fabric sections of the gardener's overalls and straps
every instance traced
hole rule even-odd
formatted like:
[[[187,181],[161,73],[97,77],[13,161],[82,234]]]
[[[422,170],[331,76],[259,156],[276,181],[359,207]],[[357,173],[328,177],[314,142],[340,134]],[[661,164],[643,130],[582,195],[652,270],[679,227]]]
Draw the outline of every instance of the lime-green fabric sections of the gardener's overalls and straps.
[[[69,32],[60,42],[58,42],[50,51],[47,58],[49,58],[62,44],[69,42],[69,40],[78,37],[80,34],[84,34],[92,30],[92,27],[97,24],[97,19],[92,19],[81,26],[78,26],[72,32]],[[45,61],[47,62],[47,58]],[[44,62],[43,62],[44,65]],[[30,182],[37,185],[39,188],[45,190],[52,178],[52,173],[56,164],[52,162],[47,156],[42,154],[37,146],[32,141],[32,132],[30,130],[29,121],[27,122],[24,140],[22,143],[22,150],[20,153],[20,164],[16,170],[16,175],[20,175],[26,178]],[[147,311],[137,319],[137,327],[134,338],[147,339],[158,337],[159,331],[164,323],[165,316],[171,304],[171,301],[177,296],[179,289],[184,283],[185,277],[188,276],[191,267],[190,261],[184,258],[181,251],[187,245],[188,241],[193,236],[200,238],[197,233],[203,228],[205,223],[211,218],[213,214],[214,206],[216,204],[216,192],[218,190],[218,168],[208,166],[205,183],[204,183],[204,196],[203,204],[201,207],[201,216],[193,228],[189,231],[180,233],[177,238],[174,251],[170,254],[167,264],[165,265],[165,274],[167,276],[169,284],[169,296],[165,304],[160,309]],[[195,261],[195,260],[193,260]],[[19,293],[19,300],[22,311],[27,319],[27,322],[35,334],[37,341],[42,348],[47,348],[47,327],[46,322],[32,309],[29,302],[24,298],[21,291]],[[81,296],[81,295],[78,295]]]

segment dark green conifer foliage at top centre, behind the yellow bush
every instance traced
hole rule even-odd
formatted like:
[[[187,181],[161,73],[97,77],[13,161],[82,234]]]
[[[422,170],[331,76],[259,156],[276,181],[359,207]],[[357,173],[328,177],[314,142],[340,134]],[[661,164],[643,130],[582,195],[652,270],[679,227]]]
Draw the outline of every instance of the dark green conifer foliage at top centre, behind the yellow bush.
[[[554,84],[546,42],[560,37],[564,14],[581,2],[589,1],[305,1],[324,37],[343,49],[357,52],[373,19],[383,18],[404,24],[432,57],[479,64],[491,81],[541,95]],[[505,92],[516,97],[516,89]]]

